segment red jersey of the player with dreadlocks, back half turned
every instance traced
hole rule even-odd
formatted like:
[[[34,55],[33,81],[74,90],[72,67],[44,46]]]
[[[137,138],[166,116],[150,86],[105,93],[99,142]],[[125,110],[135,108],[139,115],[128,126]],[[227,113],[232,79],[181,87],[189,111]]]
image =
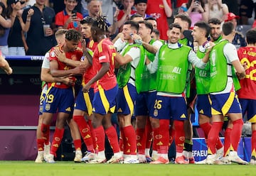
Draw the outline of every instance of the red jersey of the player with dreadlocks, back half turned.
[[[105,90],[109,90],[117,85],[117,79],[114,75],[115,55],[116,51],[114,49],[114,45],[109,39],[105,38],[97,44],[97,48],[95,48],[92,58],[93,72],[97,74],[102,67],[102,63],[104,62],[110,63],[110,70],[97,81],[97,84],[95,84],[95,92],[98,91],[99,86]]]

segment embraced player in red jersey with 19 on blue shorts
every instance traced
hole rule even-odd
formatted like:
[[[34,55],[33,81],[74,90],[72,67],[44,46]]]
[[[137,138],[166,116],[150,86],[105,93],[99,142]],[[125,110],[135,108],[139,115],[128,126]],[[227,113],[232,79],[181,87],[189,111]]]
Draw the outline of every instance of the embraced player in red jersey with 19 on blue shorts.
[[[55,55],[55,48],[60,48],[65,53],[66,57],[73,60],[80,60],[82,57],[82,50],[78,49],[82,35],[73,29],[65,33],[65,44],[56,46],[50,50],[50,74],[53,77],[71,77],[75,81],[74,75],[83,74],[84,67],[72,68],[63,62],[60,62]],[[61,139],[63,138],[65,122],[73,113],[74,94],[73,86],[66,85],[62,82],[48,83],[48,91],[46,93],[46,100],[43,101],[43,122],[41,130],[43,132],[44,143],[49,143],[48,133],[50,130],[50,122],[53,119],[53,114],[58,109],[58,116],[56,121],[55,132],[53,134],[53,142],[50,148],[50,154],[46,156],[47,163],[55,163],[53,160]],[[82,153],[81,153],[82,154]]]

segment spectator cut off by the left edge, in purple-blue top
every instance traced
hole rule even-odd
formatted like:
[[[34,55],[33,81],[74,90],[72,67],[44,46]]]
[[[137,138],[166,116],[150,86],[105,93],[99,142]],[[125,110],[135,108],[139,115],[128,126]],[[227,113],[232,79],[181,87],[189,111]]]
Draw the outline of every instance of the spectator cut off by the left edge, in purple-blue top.
[[[17,11],[21,9],[21,1],[9,0],[7,1],[7,9],[5,5],[0,2],[0,49],[3,55],[9,55],[8,50],[8,35],[11,26],[14,24]]]

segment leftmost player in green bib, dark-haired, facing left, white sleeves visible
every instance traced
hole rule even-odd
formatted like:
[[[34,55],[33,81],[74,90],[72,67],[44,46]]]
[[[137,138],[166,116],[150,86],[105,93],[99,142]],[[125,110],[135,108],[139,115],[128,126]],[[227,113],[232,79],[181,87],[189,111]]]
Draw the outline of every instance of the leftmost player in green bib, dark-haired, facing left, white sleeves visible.
[[[119,65],[117,83],[119,86],[117,94],[117,117],[119,119],[120,132],[124,145],[124,163],[139,163],[137,159],[136,134],[131,120],[134,113],[134,103],[137,99],[137,90],[142,87],[139,82],[141,76],[138,74],[139,62],[144,64],[144,48],[142,45],[134,44],[133,36],[137,35],[139,24],[135,21],[126,21],[123,31],[125,43],[119,38],[114,45],[117,47],[116,61]],[[119,43],[121,43],[119,45]],[[121,149],[122,150],[122,149]]]

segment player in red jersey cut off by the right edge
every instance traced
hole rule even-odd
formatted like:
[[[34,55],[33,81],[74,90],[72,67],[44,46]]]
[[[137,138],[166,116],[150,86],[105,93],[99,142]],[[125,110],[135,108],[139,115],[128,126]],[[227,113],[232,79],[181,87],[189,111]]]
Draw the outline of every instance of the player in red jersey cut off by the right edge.
[[[238,49],[238,57],[242,65],[246,65],[245,79],[240,79],[241,89],[238,98],[242,107],[242,115],[247,112],[247,121],[252,123],[252,154],[250,164],[256,164],[256,79],[253,73],[256,70],[256,30],[246,33],[247,47]]]

